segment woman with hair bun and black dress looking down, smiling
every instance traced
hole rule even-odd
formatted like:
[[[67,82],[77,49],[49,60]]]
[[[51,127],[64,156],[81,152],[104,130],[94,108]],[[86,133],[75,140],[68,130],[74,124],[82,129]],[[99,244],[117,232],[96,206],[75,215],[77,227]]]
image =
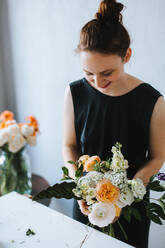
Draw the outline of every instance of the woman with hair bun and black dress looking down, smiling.
[[[129,161],[128,177],[147,185],[165,159],[165,101],[150,84],[124,72],[131,58],[130,37],[122,24],[123,4],[102,1],[95,15],[81,30],[78,52],[85,78],[70,83],[65,92],[63,158],[74,178],[76,161],[82,154],[111,157],[118,141]],[[146,200],[148,200],[149,192]],[[74,203],[73,216],[87,223],[84,201]],[[81,211],[80,211],[80,209]],[[150,221],[142,203],[142,221],[120,222],[135,247],[148,246]],[[82,213],[84,213],[84,215]],[[114,223],[115,237],[124,240]]]

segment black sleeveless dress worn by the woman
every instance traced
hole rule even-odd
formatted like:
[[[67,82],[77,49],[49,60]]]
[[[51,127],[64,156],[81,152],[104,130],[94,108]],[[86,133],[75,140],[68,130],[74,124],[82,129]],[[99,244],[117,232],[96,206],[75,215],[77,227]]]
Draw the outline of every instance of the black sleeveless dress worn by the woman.
[[[128,178],[133,178],[148,160],[149,129],[154,105],[161,94],[147,83],[142,83],[121,96],[108,96],[92,87],[85,78],[70,83],[73,99],[77,145],[81,155],[99,155],[102,160],[112,156],[116,142],[122,144],[122,153],[129,162]],[[149,192],[147,193],[149,195]],[[132,217],[128,223],[122,216],[127,243],[148,247],[150,221],[143,203],[136,204],[142,221]],[[87,224],[88,218],[74,201],[73,218]],[[113,224],[115,237],[126,242],[117,223]]]

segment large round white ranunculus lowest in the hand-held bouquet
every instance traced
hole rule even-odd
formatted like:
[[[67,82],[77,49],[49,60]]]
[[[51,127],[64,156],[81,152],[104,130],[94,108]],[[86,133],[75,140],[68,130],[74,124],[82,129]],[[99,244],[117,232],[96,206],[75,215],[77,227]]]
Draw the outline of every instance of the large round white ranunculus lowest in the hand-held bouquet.
[[[114,220],[116,210],[113,204],[98,202],[93,204],[92,211],[88,215],[91,224],[105,227]]]

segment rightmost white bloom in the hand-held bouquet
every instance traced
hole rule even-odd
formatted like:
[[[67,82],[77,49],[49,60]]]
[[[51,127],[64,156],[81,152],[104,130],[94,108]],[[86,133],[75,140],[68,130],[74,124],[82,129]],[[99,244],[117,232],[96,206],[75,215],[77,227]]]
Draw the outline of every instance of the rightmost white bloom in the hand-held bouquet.
[[[143,181],[140,178],[136,178],[133,180],[128,180],[128,183],[131,184],[134,197],[142,200],[146,194],[146,187],[144,186]]]

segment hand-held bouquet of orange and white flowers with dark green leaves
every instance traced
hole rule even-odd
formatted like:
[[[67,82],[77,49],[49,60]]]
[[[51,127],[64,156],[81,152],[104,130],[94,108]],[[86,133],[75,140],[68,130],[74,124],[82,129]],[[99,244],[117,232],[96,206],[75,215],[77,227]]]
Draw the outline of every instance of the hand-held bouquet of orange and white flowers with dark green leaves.
[[[83,155],[78,161],[68,161],[77,167],[76,179],[73,180],[68,175],[68,169],[63,167],[63,179],[71,182],[63,182],[49,187],[40,192],[33,200],[42,198],[75,198],[83,199],[89,210],[88,219],[91,226],[102,228],[103,232],[114,236],[113,221],[120,220],[120,214],[131,220],[133,215],[140,221],[141,216],[133,202],[143,201],[146,194],[146,187],[141,179],[127,178],[128,161],[124,159],[121,152],[121,144],[116,143],[112,147],[113,156],[111,159],[101,161],[98,156],[89,157]],[[84,173],[85,172],[85,173]],[[85,175],[84,175],[85,174]],[[165,191],[165,185],[161,185],[161,180],[165,180],[165,174],[151,177],[148,187],[154,191]],[[158,224],[165,220],[165,194],[161,198],[155,199],[158,203],[145,203],[148,217]],[[127,235],[120,222],[118,224],[127,239]]]

